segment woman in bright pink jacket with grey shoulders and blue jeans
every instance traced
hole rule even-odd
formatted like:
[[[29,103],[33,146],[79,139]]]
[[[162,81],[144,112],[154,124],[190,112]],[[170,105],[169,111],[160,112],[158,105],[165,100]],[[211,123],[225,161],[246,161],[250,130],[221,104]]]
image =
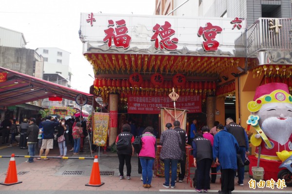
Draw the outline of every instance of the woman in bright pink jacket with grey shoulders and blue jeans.
[[[152,180],[152,166],[155,159],[156,137],[153,135],[154,129],[147,126],[142,135],[142,148],[139,153],[139,158],[142,166],[143,187],[150,188]]]

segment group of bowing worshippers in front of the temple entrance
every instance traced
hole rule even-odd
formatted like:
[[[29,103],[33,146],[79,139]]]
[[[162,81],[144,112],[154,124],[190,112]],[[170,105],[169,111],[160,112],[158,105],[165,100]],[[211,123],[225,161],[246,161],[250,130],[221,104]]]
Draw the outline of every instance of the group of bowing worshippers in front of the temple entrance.
[[[126,140],[125,148],[117,149],[119,158],[120,179],[124,179],[124,165],[127,167],[127,179],[131,176],[131,157],[135,150],[132,146],[135,138],[141,138],[141,150],[136,151],[138,156],[138,172],[142,173],[143,187],[150,188],[153,176],[153,164],[156,156],[157,142],[152,126],[143,128],[137,134],[133,121],[123,125],[122,132],[117,136],[116,143]],[[247,134],[242,126],[231,118],[226,119],[223,126],[215,121],[214,127],[203,125],[197,128],[197,120],[193,120],[190,126],[190,140],[185,130],[180,128],[181,123],[174,121],[166,123],[166,129],[160,136],[160,159],[164,163],[165,188],[174,188],[177,182],[183,182],[185,176],[185,143],[189,142],[193,148],[194,166],[196,169],[196,191],[206,193],[210,189],[210,183],[216,182],[218,171],[221,173],[221,190],[219,194],[231,194],[234,190],[234,179],[238,176],[237,184],[243,186],[244,167],[237,165],[237,154],[244,161],[245,154],[249,154]],[[140,131],[140,130],[139,130]],[[178,171],[180,164],[180,171]],[[142,169],[142,170],[141,170]],[[211,178],[210,178],[211,171]],[[170,176],[171,172],[171,176]]]

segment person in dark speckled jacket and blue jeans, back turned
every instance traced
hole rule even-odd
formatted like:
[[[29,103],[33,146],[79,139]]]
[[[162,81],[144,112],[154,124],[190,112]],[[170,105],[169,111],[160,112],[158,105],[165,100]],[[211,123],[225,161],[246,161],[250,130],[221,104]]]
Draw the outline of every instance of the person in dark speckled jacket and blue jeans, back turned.
[[[160,136],[160,144],[162,145],[160,152],[160,159],[164,162],[164,176],[165,188],[175,187],[175,180],[177,178],[178,162],[182,159],[182,139],[180,134],[173,130],[171,123],[166,123],[166,130]],[[171,181],[169,185],[169,170],[171,168]]]

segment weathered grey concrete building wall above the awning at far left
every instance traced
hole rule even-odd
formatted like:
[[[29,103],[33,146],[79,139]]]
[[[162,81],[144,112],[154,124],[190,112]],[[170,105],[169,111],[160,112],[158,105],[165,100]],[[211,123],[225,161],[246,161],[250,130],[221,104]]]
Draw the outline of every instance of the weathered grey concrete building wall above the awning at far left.
[[[0,66],[11,70],[12,63],[19,63],[20,73],[34,76],[35,50],[13,47],[0,47]]]

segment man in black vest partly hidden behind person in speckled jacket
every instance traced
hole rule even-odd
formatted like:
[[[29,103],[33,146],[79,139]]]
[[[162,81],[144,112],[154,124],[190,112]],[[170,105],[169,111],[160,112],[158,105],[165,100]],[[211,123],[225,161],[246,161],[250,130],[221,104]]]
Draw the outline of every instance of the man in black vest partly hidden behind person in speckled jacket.
[[[174,125],[174,129],[175,131],[177,131],[182,139],[182,144],[181,144],[181,150],[182,150],[182,155],[183,155],[183,159],[180,160],[180,166],[181,166],[181,170],[180,170],[180,174],[179,174],[179,182],[183,182],[183,178],[185,175],[185,142],[187,142],[187,134],[185,132],[185,130],[181,129],[181,123],[179,121],[174,121],[173,122]]]

